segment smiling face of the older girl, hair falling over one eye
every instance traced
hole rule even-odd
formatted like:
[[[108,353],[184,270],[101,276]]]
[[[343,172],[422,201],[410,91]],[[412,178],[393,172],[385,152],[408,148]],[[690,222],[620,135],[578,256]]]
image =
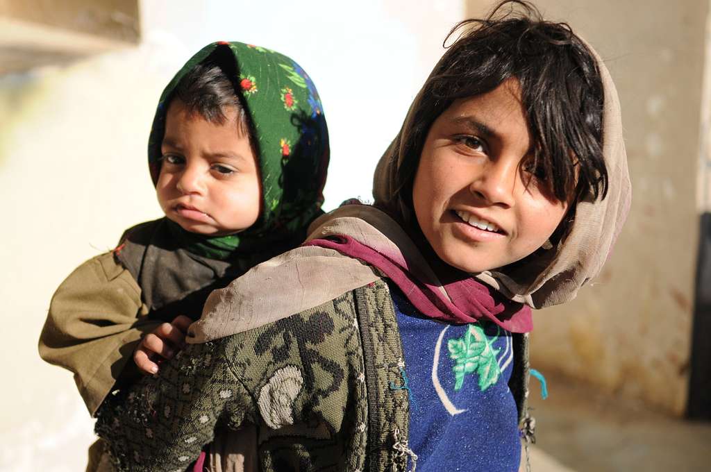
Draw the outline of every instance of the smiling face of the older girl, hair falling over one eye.
[[[528,256],[567,210],[522,168],[532,149],[520,96],[518,80],[508,79],[456,100],[424,142],[412,191],[417,222],[434,252],[465,272]]]

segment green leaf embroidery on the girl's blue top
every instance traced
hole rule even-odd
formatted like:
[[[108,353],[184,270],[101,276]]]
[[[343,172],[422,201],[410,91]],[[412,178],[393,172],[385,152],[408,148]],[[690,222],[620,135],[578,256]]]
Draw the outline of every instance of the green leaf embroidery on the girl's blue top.
[[[447,341],[449,358],[454,360],[454,390],[461,390],[464,385],[464,376],[476,372],[479,376],[479,390],[482,392],[494,385],[501,374],[498,366],[500,348],[494,348],[493,343],[498,338],[488,338],[483,328],[472,323],[461,338]]]

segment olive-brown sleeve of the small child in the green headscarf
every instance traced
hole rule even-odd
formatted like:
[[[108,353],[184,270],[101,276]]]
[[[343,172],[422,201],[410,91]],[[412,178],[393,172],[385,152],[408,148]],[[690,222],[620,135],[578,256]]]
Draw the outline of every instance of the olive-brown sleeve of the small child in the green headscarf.
[[[159,326],[146,313],[137,282],[111,252],[77,267],[52,297],[40,356],[74,373],[92,415],[132,366],[142,334]]]

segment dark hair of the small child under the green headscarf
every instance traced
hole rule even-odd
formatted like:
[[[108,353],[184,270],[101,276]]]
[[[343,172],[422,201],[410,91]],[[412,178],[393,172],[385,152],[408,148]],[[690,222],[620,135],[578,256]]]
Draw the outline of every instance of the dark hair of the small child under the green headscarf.
[[[188,112],[200,114],[213,124],[224,124],[225,109],[237,112],[240,132],[250,135],[247,113],[237,87],[219,65],[198,64],[184,75],[176,85],[171,100],[181,100]]]

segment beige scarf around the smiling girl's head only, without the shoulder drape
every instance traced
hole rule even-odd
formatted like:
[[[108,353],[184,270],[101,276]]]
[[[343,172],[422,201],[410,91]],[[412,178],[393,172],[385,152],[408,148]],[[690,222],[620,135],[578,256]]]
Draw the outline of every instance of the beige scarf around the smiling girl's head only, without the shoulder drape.
[[[491,270],[474,277],[531,308],[565,303],[575,298],[581,286],[599,274],[612,250],[631,203],[631,183],[627,154],[622,139],[622,122],[617,90],[609,71],[592,46],[587,45],[602,77],[604,87],[603,154],[608,173],[608,192],[602,201],[577,203],[572,228],[557,246],[538,251],[515,264],[514,269]],[[423,90],[415,98],[423,97]],[[413,105],[397,138],[378,163],[373,181],[375,202],[396,208],[395,173],[403,160],[404,145],[415,121]]]

